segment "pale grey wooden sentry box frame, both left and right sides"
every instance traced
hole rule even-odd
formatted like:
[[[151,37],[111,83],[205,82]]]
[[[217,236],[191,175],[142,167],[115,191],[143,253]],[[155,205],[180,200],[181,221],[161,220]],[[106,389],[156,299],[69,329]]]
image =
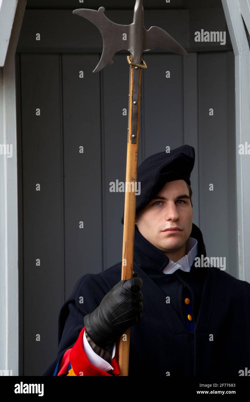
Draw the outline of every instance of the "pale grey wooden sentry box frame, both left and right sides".
[[[250,32],[250,0],[222,5],[235,55],[238,275],[250,282],[250,156],[238,154],[238,145],[250,142],[250,49],[242,22],[243,16]],[[12,375],[19,364],[15,53],[25,6],[26,0],[0,0],[0,144],[12,144],[11,158],[0,154],[0,370]]]

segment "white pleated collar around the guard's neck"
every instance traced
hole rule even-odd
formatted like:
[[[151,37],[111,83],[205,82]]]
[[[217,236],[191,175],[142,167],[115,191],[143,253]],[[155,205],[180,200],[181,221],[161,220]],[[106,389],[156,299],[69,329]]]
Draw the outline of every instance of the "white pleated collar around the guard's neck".
[[[184,257],[180,258],[176,263],[172,260],[169,260],[168,265],[163,269],[164,274],[172,274],[177,269],[181,269],[182,271],[190,272],[190,268],[193,264],[193,260],[197,255],[197,246],[198,242],[195,238],[189,237],[186,243],[186,252],[189,250],[188,254]]]

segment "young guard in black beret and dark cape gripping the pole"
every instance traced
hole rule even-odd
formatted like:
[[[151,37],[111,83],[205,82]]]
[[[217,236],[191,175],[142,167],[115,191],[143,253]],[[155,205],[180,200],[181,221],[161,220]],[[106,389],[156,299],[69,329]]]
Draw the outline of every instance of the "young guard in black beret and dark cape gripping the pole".
[[[134,276],[120,281],[120,262],[77,281],[60,311],[57,357],[42,375],[118,375],[117,340],[127,328],[129,376],[250,369],[250,284],[195,266],[206,250],[192,223],[194,161],[184,145],[138,167]]]

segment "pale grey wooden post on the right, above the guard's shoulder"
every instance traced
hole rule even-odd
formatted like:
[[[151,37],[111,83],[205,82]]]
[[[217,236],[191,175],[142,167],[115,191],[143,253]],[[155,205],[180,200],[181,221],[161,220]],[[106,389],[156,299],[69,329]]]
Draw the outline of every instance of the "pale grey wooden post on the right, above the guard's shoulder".
[[[250,144],[250,49],[242,21],[250,33],[250,1],[222,0],[222,5],[235,57],[238,276],[250,282],[250,155],[238,152],[240,144]]]

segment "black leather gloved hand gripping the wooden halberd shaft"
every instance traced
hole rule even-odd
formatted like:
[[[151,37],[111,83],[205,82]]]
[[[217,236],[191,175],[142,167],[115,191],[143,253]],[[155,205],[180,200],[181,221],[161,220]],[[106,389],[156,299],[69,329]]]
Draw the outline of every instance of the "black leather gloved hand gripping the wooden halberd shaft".
[[[96,310],[84,317],[85,331],[102,349],[110,349],[115,340],[142,317],[142,279],[135,274],[118,282]]]

